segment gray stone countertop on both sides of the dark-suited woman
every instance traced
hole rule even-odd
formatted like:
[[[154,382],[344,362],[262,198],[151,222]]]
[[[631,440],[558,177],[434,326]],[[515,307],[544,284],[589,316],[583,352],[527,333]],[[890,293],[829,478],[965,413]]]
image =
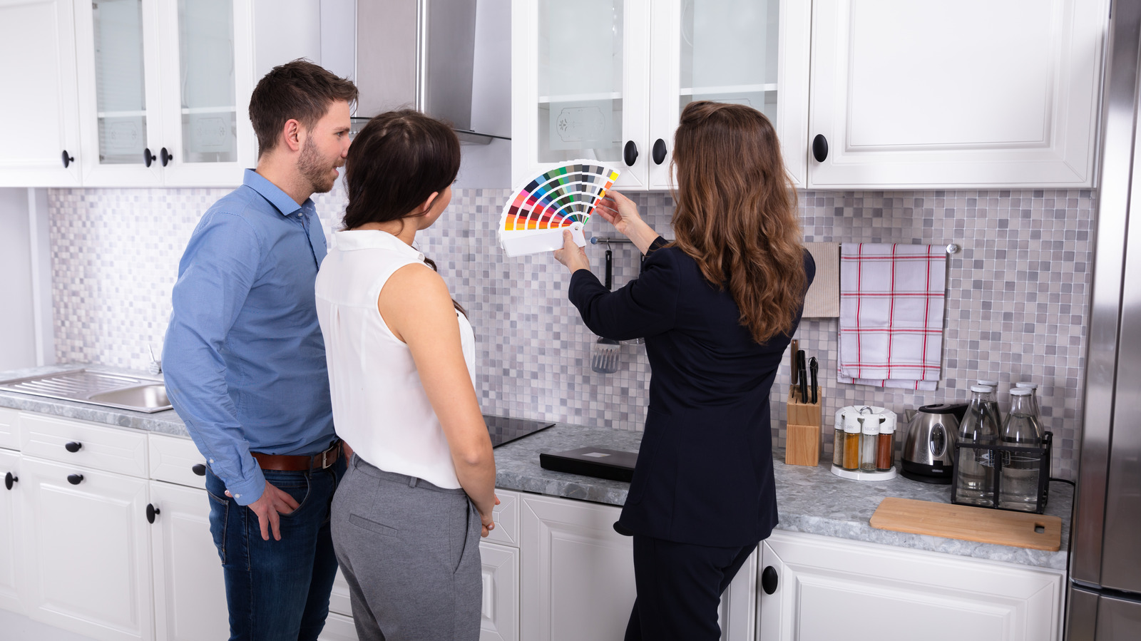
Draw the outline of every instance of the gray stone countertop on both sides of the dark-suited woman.
[[[556,424],[495,448],[495,485],[504,489],[622,505],[630,484],[544,470],[539,466],[539,454],[578,447],[637,452],[640,443],[641,432]],[[1046,514],[1061,517],[1062,546],[1058,552],[1047,552],[873,528],[869,522],[872,513],[884,497],[949,503],[950,486],[917,482],[903,477],[887,481],[855,481],[833,474],[831,461],[809,468],[785,465],[782,462],[784,452],[780,451],[774,457],[780,520],[777,529],[1059,570],[1067,567],[1074,501],[1074,489],[1067,484],[1054,482],[1050,487]]]

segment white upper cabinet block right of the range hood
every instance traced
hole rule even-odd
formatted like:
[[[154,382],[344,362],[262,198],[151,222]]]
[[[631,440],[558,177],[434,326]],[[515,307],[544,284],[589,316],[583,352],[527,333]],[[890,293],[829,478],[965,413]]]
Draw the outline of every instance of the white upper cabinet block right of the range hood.
[[[799,187],[1094,184],[1107,0],[516,0],[512,180],[667,189],[680,109],[752,105]]]

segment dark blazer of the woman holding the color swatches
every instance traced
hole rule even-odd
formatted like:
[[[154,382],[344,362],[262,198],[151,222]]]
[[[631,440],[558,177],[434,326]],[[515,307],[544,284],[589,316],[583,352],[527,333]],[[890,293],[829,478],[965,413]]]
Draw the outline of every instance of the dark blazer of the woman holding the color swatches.
[[[758,344],[728,290],[664,244],[661,236],[654,241],[642,274],[616,292],[589,269],[575,271],[568,290],[596,334],[644,336],[653,370],[646,431],[618,525],[678,543],[752,545],[777,524],[769,390],[796,325]],[[816,263],[808,251],[804,271],[810,284]]]

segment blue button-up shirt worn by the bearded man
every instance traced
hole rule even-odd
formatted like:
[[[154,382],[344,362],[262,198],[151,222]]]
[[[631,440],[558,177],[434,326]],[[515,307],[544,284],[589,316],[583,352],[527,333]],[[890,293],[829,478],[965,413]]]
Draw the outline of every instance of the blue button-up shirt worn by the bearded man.
[[[167,393],[242,505],[265,489],[251,451],[316,454],[335,438],[314,301],[325,253],[313,200],[298,205],[246,170],[202,216],[178,265]]]

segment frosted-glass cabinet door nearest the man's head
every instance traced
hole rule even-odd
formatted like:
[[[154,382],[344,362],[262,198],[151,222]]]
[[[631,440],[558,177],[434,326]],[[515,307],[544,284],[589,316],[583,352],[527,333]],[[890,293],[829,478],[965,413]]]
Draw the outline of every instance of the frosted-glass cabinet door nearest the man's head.
[[[167,185],[229,186],[252,168],[250,0],[162,5]],[[170,55],[175,54],[175,55]]]

